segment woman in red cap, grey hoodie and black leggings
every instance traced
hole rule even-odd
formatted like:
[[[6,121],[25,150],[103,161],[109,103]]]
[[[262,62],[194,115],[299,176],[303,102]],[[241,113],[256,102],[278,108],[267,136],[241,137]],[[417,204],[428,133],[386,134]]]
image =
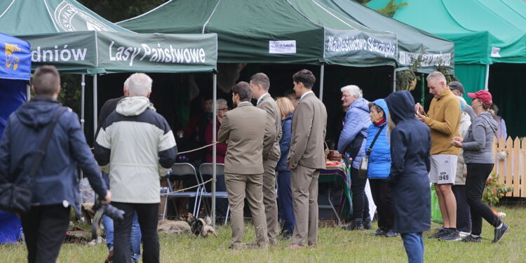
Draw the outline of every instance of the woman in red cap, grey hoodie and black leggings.
[[[462,242],[480,242],[482,238],[482,219],[492,224],[494,238],[492,243],[497,243],[504,236],[509,227],[501,222],[491,208],[482,201],[482,195],[487,177],[493,170],[495,162],[493,156],[493,138],[497,131],[498,123],[494,121],[489,109],[492,105],[492,95],[486,90],[468,93],[471,97],[471,107],[477,114],[473,119],[468,133],[464,137],[454,137],[451,142],[454,147],[464,149],[464,161],[468,167],[466,176],[466,196],[471,209],[471,235],[462,239]]]

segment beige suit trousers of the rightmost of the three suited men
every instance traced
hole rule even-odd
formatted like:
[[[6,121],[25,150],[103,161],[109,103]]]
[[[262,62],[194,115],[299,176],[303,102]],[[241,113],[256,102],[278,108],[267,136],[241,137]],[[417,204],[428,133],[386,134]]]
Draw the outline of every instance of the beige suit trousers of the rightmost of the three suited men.
[[[292,244],[316,245],[318,242],[318,169],[296,166],[290,169],[292,207],[296,225]]]

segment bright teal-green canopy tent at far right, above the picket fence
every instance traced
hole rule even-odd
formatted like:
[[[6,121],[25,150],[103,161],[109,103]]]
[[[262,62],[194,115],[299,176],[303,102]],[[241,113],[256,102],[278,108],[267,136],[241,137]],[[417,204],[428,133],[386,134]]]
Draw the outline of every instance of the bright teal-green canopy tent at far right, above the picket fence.
[[[379,8],[385,0],[373,0]],[[515,0],[398,0],[407,3],[394,18],[455,43],[455,74],[468,92],[488,89],[504,109],[508,133],[524,135],[517,108],[526,63],[526,3]],[[492,65],[490,67],[490,65]],[[488,86],[491,83],[491,86]],[[505,108],[503,108],[503,104]],[[511,127],[510,127],[511,123]]]

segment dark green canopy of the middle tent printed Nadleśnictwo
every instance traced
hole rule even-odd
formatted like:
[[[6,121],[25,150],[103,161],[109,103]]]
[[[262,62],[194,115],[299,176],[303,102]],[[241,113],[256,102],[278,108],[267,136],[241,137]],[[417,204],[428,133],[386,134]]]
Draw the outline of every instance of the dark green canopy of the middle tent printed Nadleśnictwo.
[[[396,34],[304,0],[173,0],[118,23],[141,33],[218,34],[218,62],[396,65]]]

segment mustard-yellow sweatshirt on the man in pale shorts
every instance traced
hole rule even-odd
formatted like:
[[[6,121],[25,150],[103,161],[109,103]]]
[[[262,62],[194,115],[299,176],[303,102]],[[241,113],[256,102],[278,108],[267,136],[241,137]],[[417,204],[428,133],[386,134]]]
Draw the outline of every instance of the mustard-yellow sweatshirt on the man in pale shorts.
[[[451,145],[454,137],[459,137],[460,102],[450,88],[440,97],[433,98],[424,123],[431,128],[431,155],[459,155],[460,149]]]

